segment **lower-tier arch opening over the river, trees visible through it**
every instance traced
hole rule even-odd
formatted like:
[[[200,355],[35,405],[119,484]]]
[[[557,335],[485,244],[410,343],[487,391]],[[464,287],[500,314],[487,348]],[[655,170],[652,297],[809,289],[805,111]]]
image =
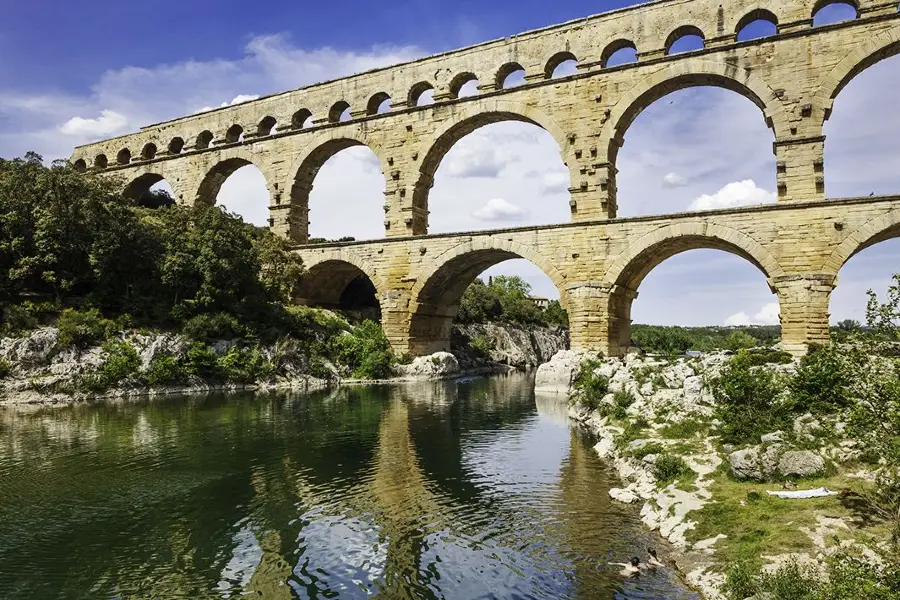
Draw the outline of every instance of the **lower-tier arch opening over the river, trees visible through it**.
[[[532,262],[524,254],[498,248],[469,250],[429,272],[422,285],[413,289],[410,352],[450,350],[457,317],[478,322],[505,316],[511,321],[541,323],[547,318],[545,300],[548,304],[556,300],[557,308],[564,308],[563,278],[545,260],[532,255]]]

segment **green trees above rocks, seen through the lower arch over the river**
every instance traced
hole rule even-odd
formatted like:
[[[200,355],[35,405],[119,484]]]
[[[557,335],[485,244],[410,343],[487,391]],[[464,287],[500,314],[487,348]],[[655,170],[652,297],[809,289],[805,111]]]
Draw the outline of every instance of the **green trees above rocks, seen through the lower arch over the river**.
[[[516,323],[520,325],[567,326],[569,318],[558,300],[547,308],[531,299],[531,285],[521,277],[476,279],[466,289],[459,305],[458,323]]]

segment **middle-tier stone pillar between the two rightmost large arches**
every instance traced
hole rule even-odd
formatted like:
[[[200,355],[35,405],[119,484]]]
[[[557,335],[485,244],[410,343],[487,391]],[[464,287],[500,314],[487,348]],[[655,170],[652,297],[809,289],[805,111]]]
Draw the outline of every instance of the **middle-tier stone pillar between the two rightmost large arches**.
[[[779,202],[825,199],[825,136],[777,140],[775,165]]]

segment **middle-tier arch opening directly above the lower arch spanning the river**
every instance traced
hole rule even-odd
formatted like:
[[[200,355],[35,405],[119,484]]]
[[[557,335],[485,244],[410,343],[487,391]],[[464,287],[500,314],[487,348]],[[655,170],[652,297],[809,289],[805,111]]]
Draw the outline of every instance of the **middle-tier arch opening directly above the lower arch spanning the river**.
[[[566,222],[570,174],[559,142],[522,115],[474,115],[424,156],[413,206],[423,233]],[[426,220],[427,219],[427,220]]]

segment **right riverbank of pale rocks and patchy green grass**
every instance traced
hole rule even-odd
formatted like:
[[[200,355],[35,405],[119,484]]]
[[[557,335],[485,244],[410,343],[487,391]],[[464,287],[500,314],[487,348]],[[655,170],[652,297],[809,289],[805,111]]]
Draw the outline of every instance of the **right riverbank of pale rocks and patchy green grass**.
[[[798,369],[787,357],[769,359],[757,368],[786,377]],[[863,501],[878,465],[851,437],[846,415],[803,414],[755,442],[725,443],[712,387],[729,360],[721,353],[668,361],[567,352],[539,369],[536,386],[572,398],[571,418],[597,436],[595,451],[622,479],[611,498],[641,505],[645,525],[672,544],[676,568],[704,597],[738,597],[726,595],[727,573],[738,564],[824,571],[837,553],[875,560],[871,549],[890,539],[889,525]],[[578,389],[583,364],[593,378],[588,386],[603,382],[600,398]],[[836,494],[790,500],[767,493],[823,487]]]

